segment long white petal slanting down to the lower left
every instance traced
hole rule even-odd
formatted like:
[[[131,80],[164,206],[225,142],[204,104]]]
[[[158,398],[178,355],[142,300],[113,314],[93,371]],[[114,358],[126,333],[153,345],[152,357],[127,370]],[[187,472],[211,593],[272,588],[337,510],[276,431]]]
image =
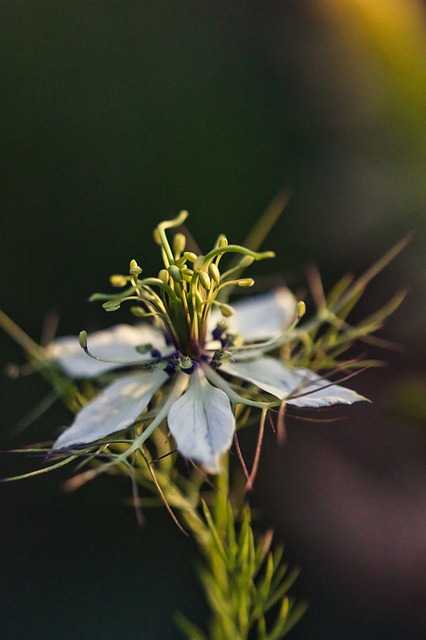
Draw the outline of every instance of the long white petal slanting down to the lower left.
[[[167,373],[157,370],[116,380],[83,407],[52,449],[69,449],[123,431],[135,422],[168,378]]]

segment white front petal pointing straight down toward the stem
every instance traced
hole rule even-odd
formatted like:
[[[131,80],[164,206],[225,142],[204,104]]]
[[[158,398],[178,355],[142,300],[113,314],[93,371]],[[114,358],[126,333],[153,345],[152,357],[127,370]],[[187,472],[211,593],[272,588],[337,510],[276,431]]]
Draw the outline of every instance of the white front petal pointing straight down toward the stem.
[[[201,369],[191,374],[188,390],[169,411],[168,424],[179,453],[212,473],[220,471],[220,455],[231,445],[235,418],[226,393],[213,387]]]

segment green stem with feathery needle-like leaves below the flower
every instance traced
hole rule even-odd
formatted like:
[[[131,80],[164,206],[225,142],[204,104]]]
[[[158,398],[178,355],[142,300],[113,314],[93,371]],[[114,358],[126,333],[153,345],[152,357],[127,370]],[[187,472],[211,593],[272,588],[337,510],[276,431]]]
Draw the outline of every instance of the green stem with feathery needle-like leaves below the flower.
[[[205,501],[201,499],[203,477],[197,471],[188,478],[176,468],[174,474],[166,466],[156,470],[169,506],[179,511],[197,543],[203,559],[198,573],[210,607],[207,635],[182,614],[177,623],[189,640],[279,640],[305,609],[303,604],[293,608],[287,597],[297,574],[285,575],[280,549],[271,551],[272,532],[254,534],[244,491],[231,491],[228,464],[225,455]],[[267,625],[269,610],[276,613]]]

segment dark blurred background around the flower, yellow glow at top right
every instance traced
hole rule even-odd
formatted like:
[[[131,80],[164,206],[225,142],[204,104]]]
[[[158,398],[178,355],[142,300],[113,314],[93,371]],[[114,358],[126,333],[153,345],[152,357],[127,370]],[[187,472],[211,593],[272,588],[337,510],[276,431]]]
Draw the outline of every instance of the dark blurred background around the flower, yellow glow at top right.
[[[34,339],[50,312],[59,334],[107,326],[88,296],[131,258],[157,270],[152,229],[183,208],[205,250],[291,188],[256,273],[295,289],[312,262],[329,288],[414,233],[360,309],[409,289],[381,332],[404,350],[353,381],[374,404],[289,418],[253,500],[302,567],[310,608],[289,637],[426,638],[423,3],[16,0],[0,16],[0,306]],[[0,349],[23,361],[3,334]],[[70,420],[55,406],[11,439],[48,389],[0,385],[2,449]],[[3,477],[27,466],[0,457]],[[178,608],[202,624],[194,549],[168,516],[141,531],[125,480],[69,495],[67,477],[0,489],[1,638],[168,640]]]

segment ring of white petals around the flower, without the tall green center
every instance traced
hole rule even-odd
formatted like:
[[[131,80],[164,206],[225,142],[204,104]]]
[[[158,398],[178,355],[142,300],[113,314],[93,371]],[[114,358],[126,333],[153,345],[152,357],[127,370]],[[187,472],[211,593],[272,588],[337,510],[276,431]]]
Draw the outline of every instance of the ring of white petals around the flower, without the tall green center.
[[[60,338],[49,347],[50,356],[73,378],[93,378],[120,367],[132,366],[108,384],[77,414],[73,424],[53,445],[72,449],[131,427],[163,385],[170,387],[157,416],[139,436],[139,444],[167,416],[178,451],[211,472],[220,469],[220,457],[230,447],[235,429],[232,405],[265,406],[244,397],[243,389],[228,382],[249,382],[271,396],[271,405],[286,402],[299,407],[352,404],[364,398],[334,385],[313,372],[289,368],[266,355],[276,349],[280,336],[293,323],[296,300],[284,288],[235,303],[226,335],[238,334],[238,346],[226,349],[226,336],[218,339],[220,316],[211,314],[203,344],[190,357],[168,344],[165,334],[148,325],[117,325],[94,333],[92,359],[77,338]],[[222,340],[222,342],[221,342]],[[222,349],[223,344],[225,347]],[[140,353],[136,347],[150,345]],[[153,357],[154,356],[154,357]],[[111,362],[113,361],[113,362]],[[149,364],[149,368],[146,367]],[[225,374],[225,377],[222,375]],[[174,378],[174,385],[170,381]],[[236,390],[237,389],[237,390]]]

